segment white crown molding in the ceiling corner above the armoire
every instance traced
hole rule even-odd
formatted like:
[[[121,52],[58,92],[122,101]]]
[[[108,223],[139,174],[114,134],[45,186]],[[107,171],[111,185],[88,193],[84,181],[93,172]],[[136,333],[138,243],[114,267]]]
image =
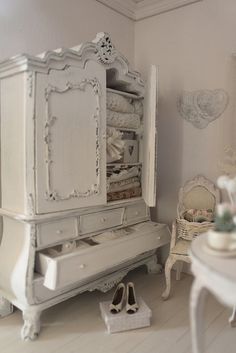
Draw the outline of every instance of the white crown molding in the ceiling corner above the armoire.
[[[175,10],[203,0],[96,0],[120,14],[134,20]]]

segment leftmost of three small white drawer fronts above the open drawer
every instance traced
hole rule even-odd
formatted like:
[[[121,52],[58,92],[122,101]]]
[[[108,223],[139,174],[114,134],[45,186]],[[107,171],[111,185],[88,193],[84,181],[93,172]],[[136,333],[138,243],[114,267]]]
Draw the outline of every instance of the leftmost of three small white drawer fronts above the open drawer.
[[[39,224],[37,234],[38,247],[75,238],[78,235],[77,219],[70,217],[56,222]]]

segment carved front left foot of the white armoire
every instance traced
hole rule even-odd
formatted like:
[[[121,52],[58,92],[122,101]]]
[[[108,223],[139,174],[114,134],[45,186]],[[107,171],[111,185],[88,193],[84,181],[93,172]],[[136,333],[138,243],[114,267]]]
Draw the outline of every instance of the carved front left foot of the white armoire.
[[[23,311],[24,325],[21,329],[21,338],[24,341],[35,340],[40,332],[41,311],[28,309]]]

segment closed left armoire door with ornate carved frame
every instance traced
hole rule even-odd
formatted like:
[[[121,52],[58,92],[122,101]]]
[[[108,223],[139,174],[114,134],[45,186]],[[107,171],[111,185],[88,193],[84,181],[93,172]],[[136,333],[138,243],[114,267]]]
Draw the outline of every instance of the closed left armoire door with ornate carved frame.
[[[95,61],[37,74],[37,213],[106,202],[105,85]]]

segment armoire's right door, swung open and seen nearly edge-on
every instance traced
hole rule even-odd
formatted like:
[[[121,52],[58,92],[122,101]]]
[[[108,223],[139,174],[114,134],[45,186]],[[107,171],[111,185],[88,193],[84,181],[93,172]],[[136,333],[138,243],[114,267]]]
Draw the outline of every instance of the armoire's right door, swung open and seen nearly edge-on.
[[[152,65],[144,99],[142,194],[147,206],[156,205],[156,145],[157,145],[157,67]]]

